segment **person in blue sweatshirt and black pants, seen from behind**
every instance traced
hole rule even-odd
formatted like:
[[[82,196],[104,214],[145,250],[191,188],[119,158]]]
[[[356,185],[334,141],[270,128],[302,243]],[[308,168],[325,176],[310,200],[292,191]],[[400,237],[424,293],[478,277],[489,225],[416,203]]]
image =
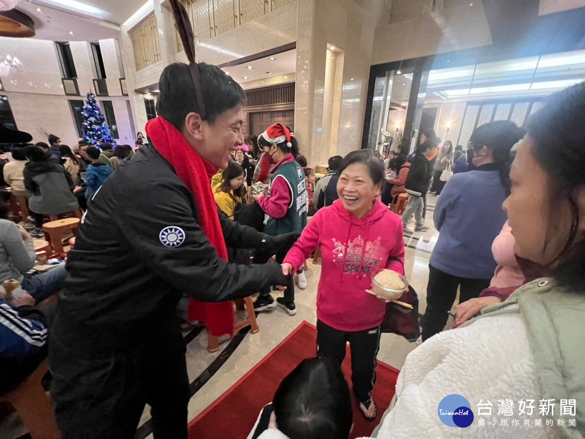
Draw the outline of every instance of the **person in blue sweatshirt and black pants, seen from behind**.
[[[491,244],[507,219],[502,203],[510,194],[510,149],[523,133],[510,121],[477,128],[473,170],[453,175],[437,200],[433,219],[440,234],[429,263],[423,341],[445,327],[457,288],[462,303],[490,286],[497,265]]]

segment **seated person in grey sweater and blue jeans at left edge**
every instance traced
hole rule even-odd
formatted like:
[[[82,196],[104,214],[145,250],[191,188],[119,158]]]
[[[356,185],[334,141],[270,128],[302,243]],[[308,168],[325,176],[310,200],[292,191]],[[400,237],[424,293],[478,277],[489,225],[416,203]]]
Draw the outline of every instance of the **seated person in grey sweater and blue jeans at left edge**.
[[[8,279],[20,282],[22,289],[40,303],[57,293],[65,281],[65,264],[61,264],[40,275],[25,274],[36,261],[33,238],[25,228],[4,219],[8,207],[0,199],[0,283]]]

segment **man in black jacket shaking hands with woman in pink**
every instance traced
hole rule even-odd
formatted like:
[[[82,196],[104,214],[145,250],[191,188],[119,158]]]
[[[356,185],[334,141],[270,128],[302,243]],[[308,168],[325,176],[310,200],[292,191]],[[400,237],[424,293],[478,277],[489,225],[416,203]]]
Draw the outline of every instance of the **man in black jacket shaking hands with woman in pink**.
[[[219,68],[199,64],[204,118],[190,67],[164,69],[158,113],[217,167],[243,143],[245,94]],[[64,439],[133,438],[146,403],[155,438],[187,438],[190,392],[176,313],[182,294],[226,301],[290,280],[280,265],[218,258],[200,225],[208,212],[156,146],[140,148],[92,197],[68,256],[49,348]],[[219,215],[228,247],[274,254],[294,242],[292,234],[269,237]]]

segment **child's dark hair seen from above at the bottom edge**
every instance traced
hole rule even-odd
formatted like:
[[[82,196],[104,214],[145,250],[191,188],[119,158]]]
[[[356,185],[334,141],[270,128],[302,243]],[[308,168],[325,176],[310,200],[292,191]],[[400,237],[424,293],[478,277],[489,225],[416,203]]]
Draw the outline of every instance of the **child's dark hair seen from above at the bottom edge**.
[[[326,358],[301,361],[278,386],[273,407],[278,430],[290,439],[347,439],[352,430],[349,387]]]

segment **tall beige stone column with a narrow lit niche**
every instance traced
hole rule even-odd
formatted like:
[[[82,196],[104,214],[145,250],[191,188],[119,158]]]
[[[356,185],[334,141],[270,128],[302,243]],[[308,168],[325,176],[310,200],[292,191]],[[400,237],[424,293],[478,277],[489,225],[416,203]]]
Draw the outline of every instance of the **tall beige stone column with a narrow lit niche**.
[[[360,148],[379,2],[361,3],[297,0],[295,135],[309,166]],[[326,69],[328,49],[336,59]]]

